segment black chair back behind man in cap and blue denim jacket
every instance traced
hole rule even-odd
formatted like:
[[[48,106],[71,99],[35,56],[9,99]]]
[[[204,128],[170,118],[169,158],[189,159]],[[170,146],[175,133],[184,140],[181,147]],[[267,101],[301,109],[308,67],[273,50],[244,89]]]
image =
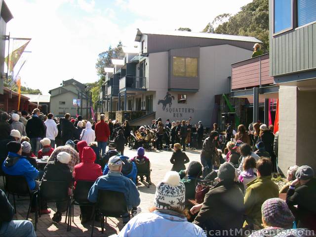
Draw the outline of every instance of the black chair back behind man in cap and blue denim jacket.
[[[98,208],[100,212],[109,217],[121,217],[129,213],[123,193],[99,189]]]

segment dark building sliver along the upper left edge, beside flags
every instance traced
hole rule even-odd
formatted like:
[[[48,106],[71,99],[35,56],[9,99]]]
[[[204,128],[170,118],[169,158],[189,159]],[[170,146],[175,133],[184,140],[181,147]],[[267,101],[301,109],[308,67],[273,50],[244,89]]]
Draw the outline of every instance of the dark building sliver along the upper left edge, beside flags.
[[[0,94],[3,94],[3,79],[7,78],[4,72],[5,41],[8,40],[6,35],[6,23],[13,18],[9,8],[4,0],[0,0]]]

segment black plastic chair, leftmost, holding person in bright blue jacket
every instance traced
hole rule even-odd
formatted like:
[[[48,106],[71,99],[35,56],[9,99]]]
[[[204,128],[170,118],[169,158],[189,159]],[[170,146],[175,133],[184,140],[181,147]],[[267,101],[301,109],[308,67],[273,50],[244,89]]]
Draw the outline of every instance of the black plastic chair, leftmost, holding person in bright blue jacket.
[[[16,213],[16,205],[15,205],[15,195],[22,196],[22,197],[30,197],[30,205],[28,209],[28,213],[26,215],[26,220],[29,219],[29,214],[31,211],[32,201],[35,198],[35,226],[34,229],[37,229],[37,222],[38,222],[38,214],[40,215],[40,205],[38,194],[39,190],[31,190],[25,177],[23,175],[5,175],[5,190],[8,192],[8,196],[11,194],[13,195],[13,204],[14,204],[14,211]]]

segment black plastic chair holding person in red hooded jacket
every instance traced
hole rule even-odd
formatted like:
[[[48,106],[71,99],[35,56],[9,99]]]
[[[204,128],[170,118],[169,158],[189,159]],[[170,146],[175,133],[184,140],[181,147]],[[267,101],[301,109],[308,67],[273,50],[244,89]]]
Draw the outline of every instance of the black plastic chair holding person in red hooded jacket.
[[[74,189],[74,197],[71,204],[73,222],[74,222],[74,205],[94,206],[94,203],[88,200],[89,191],[94,184],[93,181],[78,180]]]

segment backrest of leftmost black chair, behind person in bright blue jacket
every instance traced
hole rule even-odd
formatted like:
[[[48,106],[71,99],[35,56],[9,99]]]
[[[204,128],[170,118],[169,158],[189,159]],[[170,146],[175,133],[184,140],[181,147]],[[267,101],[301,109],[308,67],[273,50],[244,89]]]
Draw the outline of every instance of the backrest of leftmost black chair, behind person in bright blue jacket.
[[[23,175],[5,175],[5,190],[9,194],[29,196],[31,191]]]

